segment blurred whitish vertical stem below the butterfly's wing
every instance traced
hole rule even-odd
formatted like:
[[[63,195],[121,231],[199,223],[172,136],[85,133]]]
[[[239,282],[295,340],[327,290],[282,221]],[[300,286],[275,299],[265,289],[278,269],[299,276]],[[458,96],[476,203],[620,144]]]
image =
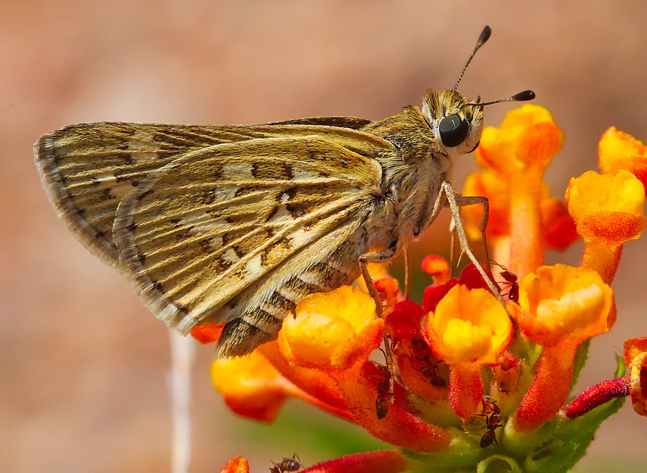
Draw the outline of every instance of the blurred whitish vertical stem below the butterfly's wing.
[[[191,368],[195,360],[195,341],[169,329],[171,372],[168,390],[173,410],[173,450],[171,473],[188,473],[191,463]]]

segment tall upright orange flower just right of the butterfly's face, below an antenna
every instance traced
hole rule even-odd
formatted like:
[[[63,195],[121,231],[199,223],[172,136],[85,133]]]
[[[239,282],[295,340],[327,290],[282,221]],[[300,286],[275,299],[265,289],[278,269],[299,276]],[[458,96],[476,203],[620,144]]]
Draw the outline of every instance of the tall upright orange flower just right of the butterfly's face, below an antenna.
[[[540,267],[549,247],[542,214],[548,198],[543,172],[563,142],[546,109],[523,105],[507,113],[500,129],[483,129],[476,149],[477,164],[487,171],[473,177],[468,182],[472,188],[463,194],[491,199],[492,230],[487,233],[494,236],[494,259],[520,276]],[[474,209],[463,212],[472,213],[468,227],[474,236],[480,215]]]

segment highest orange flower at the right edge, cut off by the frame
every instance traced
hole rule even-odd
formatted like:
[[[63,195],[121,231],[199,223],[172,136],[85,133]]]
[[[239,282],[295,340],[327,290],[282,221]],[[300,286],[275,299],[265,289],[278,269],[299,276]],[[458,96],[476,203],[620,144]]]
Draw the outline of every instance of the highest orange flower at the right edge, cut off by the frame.
[[[615,174],[626,170],[643,185],[647,184],[647,146],[641,140],[612,126],[600,138],[598,156],[602,172]]]

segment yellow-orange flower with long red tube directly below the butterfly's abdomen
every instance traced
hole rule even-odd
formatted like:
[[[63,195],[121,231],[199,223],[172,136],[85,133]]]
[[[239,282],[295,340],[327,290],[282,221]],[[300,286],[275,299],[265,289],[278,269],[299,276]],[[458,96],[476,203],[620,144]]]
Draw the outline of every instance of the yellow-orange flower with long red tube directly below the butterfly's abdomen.
[[[331,377],[358,424],[382,441],[420,452],[449,445],[447,432],[405,410],[408,402],[400,388],[385,393],[378,387],[388,371],[367,360],[382,342],[384,320],[375,320],[375,303],[366,292],[340,287],[311,294],[295,312],[294,318],[283,321],[278,338],[281,354],[293,366],[314,368]],[[380,397],[389,402],[378,417]]]

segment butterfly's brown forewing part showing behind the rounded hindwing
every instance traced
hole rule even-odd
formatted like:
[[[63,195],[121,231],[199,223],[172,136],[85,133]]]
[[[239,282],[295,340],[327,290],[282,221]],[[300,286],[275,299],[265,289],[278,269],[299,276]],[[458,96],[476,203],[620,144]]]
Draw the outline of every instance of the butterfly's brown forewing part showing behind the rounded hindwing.
[[[367,122],[333,116],[259,126],[84,123],[43,135],[34,155],[60,217],[86,248],[118,267],[112,234],[116,208],[151,171],[206,146],[281,136],[285,124],[356,128]]]

